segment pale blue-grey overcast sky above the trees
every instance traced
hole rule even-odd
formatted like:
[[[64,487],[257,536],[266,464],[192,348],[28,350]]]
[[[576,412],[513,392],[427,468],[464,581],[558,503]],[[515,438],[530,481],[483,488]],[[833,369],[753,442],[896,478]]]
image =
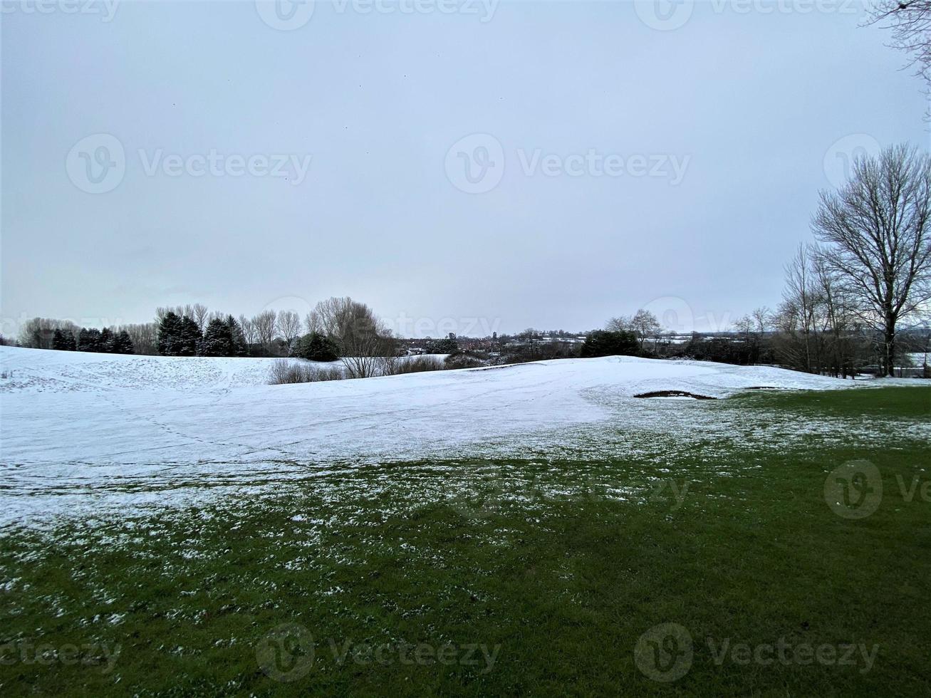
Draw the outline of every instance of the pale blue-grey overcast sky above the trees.
[[[3,3],[5,334],[333,295],[714,329],[776,305],[845,158],[929,144],[853,0],[86,1]]]

